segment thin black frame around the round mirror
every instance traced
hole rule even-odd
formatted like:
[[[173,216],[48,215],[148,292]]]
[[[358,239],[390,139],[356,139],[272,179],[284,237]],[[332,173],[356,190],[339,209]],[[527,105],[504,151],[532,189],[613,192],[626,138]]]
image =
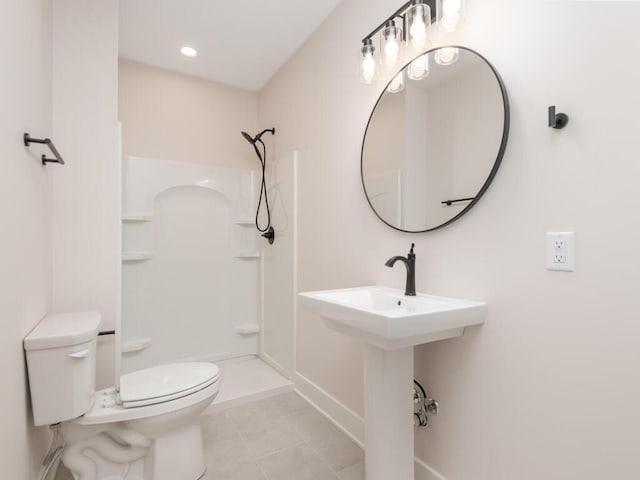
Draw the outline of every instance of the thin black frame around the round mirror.
[[[500,86],[500,92],[502,93],[502,105],[503,105],[503,112],[504,112],[504,126],[503,126],[503,129],[502,129],[502,140],[500,141],[500,148],[498,149],[498,155],[496,157],[496,161],[494,162],[493,167],[491,168],[491,172],[489,172],[489,175],[487,176],[487,179],[485,180],[484,184],[480,188],[480,191],[475,195],[474,199],[460,213],[458,213],[455,217],[450,218],[446,222],[444,222],[444,223],[442,223],[442,224],[440,224],[440,225],[438,225],[436,227],[428,228],[426,230],[403,230],[402,228],[398,228],[398,227],[396,227],[394,225],[391,225],[389,222],[387,222],[384,218],[382,218],[378,214],[378,212],[376,211],[375,208],[373,208],[373,205],[372,205],[371,200],[369,199],[369,195],[367,193],[367,187],[365,186],[365,183],[364,183],[364,143],[365,143],[365,140],[367,139],[367,131],[369,130],[369,125],[371,124],[371,119],[373,118],[373,114],[375,113],[376,108],[378,107],[378,104],[380,103],[380,100],[382,99],[383,95],[387,91],[387,87],[393,81],[393,78],[395,77],[395,75],[394,75],[392,77],[392,79],[389,81],[389,83],[387,83],[387,85],[385,85],[384,89],[382,90],[382,93],[378,97],[378,100],[376,101],[375,105],[373,106],[373,109],[371,110],[371,115],[369,115],[369,121],[367,122],[367,127],[364,130],[364,136],[362,137],[362,149],[360,151],[360,177],[361,177],[361,180],[362,180],[362,189],[364,191],[364,195],[367,198],[367,202],[369,203],[369,206],[371,207],[371,210],[373,210],[373,213],[375,213],[376,217],[378,217],[383,223],[385,223],[389,227],[393,228],[394,230],[398,230],[400,232],[405,232],[405,233],[432,232],[434,230],[438,230],[439,228],[443,228],[443,227],[446,227],[447,225],[450,225],[451,223],[455,222],[460,217],[462,217],[469,210],[471,210],[471,208],[473,208],[473,206],[476,203],[478,203],[478,201],[480,200],[482,195],[484,195],[484,193],[487,191],[487,189],[489,188],[489,185],[491,185],[491,182],[493,181],[494,177],[496,176],[496,173],[498,172],[498,169],[500,168],[500,164],[502,163],[502,158],[504,157],[505,150],[507,148],[507,140],[509,139],[510,113],[509,113],[509,97],[507,96],[507,89],[506,89],[506,87],[504,85],[504,82],[502,81],[502,77],[500,76],[498,71],[495,69],[495,67],[491,64],[491,62],[489,62],[483,55],[480,55],[475,50],[473,50],[471,48],[468,48],[468,47],[463,47],[463,46],[460,46],[460,45],[443,45],[443,46],[440,46],[440,47],[437,47],[437,48],[432,48],[430,50],[427,50],[424,53],[421,53],[420,55],[416,55],[408,63],[406,63],[400,70],[398,70],[396,75],[398,73],[400,73],[401,71],[403,71],[404,69],[406,69],[411,64],[411,62],[413,62],[416,58],[418,58],[418,57],[420,57],[422,55],[426,55],[428,53],[435,52],[436,50],[439,50],[440,48],[458,48],[460,50],[466,50],[466,51],[471,52],[471,53],[477,55],[478,57],[480,57],[489,66],[489,68],[493,72],[494,76],[496,77],[496,80],[498,81],[498,85]]]

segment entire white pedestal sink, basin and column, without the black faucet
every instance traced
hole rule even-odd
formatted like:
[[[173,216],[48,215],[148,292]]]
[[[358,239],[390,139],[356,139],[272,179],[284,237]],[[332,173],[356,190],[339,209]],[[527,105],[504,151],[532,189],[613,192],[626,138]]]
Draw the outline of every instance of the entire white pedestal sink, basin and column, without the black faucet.
[[[300,293],[333,330],[365,341],[367,480],[413,480],[413,347],[459,337],[487,305],[386,287]]]

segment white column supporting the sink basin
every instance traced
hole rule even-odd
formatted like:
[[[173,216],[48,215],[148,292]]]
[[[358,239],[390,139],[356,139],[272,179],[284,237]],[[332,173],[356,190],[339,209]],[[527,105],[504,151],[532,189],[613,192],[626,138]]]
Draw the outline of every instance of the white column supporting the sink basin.
[[[413,347],[365,346],[367,480],[413,480]]]

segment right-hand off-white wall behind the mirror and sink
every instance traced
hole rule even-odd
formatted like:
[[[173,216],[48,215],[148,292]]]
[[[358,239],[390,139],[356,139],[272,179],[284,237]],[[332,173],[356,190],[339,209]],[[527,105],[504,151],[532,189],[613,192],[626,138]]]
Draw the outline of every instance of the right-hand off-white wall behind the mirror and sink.
[[[342,3],[260,95],[277,150],[300,152],[300,291],[401,287],[404,270],[383,264],[414,241],[418,290],[489,304],[484,326],[416,349],[416,376],[442,408],[416,453],[449,480],[640,471],[640,4],[540,4],[470,0],[464,30],[437,40],[497,67],[512,124],[487,194],[433,233],[384,226],[360,185],[378,91],[358,82],[355,52],[397,2]],[[552,104],[571,116],[562,131],[547,128]],[[577,232],[574,273],[544,269],[544,235],[556,230]],[[297,352],[298,388],[359,435],[362,345],[300,310]]]

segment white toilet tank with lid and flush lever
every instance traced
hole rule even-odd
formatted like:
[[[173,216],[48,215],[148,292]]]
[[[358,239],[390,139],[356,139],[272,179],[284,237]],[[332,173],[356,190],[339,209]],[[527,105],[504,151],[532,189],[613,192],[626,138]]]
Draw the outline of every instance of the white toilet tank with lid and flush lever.
[[[24,339],[33,421],[51,425],[93,405],[98,312],[47,315]]]

